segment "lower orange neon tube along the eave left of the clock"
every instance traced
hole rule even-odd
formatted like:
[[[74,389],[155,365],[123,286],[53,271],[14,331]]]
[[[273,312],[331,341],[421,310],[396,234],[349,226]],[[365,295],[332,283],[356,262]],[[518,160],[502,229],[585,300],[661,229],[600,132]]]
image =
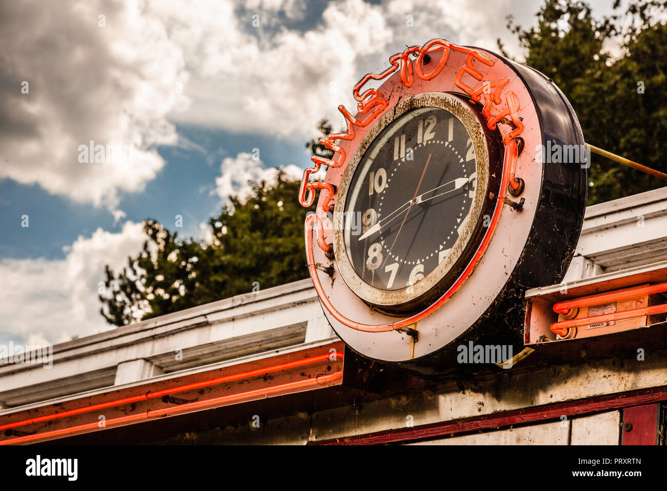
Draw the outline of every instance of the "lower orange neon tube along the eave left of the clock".
[[[159,410],[148,410],[145,413],[131,414],[129,416],[121,416],[119,418],[113,418],[105,422],[104,429],[110,428],[113,426],[122,426],[131,422],[137,422],[140,420],[150,420],[153,418],[159,418],[160,416],[169,416],[174,413],[184,412],[187,410],[203,410],[211,407],[221,407],[223,405],[229,405],[231,403],[237,402],[244,399],[244,402],[263,399],[269,395],[275,395],[276,393],[288,393],[288,391],[295,389],[303,389],[304,387],[315,387],[317,385],[324,385],[325,383],[336,381],[343,376],[342,371],[337,371],[336,373],[331,373],[331,375],[322,375],[321,377],[315,377],[305,380],[297,380],[289,383],[282,383],[281,385],[275,385],[274,387],[267,387],[265,389],[255,389],[249,390],[241,393],[223,395],[221,397],[214,397],[213,399],[206,399],[205,401],[194,401],[181,405],[164,407]],[[51,438],[54,436],[64,436],[64,435],[73,435],[86,430],[94,430],[99,428],[99,422],[82,424],[79,426],[71,426],[69,428],[62,428],[61,430],[53,430],[51,432],[37,433],[34,435],[20,436],[18,438],[11,438],[10,440],[3,440],[0,442],[0,445],[9,445],[9,444],[20,444],[31,442],[33,440],[43,440],[45,438]]]

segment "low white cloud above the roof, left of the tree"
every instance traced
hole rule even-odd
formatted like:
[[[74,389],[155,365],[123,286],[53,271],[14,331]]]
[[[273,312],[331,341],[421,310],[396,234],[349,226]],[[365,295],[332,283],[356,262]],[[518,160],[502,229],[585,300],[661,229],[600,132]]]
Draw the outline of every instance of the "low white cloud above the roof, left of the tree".
[[[79,236],[65,259],[0,261],[5,291],[0,342],[19,337],[59,343],[111,329],[99,313],[97,298],[99,282],[106,279],[104,267],[122,269],[146,238],[141,223],[125,222],[117,233],[98,228],[89,237]]]

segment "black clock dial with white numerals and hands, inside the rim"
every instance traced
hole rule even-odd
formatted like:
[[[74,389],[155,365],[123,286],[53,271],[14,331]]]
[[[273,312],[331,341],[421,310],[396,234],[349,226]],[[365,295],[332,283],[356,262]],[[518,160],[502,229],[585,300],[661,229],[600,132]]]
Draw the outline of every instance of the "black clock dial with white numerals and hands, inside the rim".
[[[407,112],[370,144],[346,200],[348,259],[368,285],[411,287],[445,261],[475,202],[470,134],[441,108]]]

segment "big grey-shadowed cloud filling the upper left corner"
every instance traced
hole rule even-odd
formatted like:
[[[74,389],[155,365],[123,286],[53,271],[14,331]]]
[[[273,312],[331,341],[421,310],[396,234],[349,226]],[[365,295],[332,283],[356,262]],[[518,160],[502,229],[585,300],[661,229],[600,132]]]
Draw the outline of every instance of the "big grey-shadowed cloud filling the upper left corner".
[[[166,114],[185,108],[175,84],[187,73],[143,3],[3,2],[0,41],[0,178],[111,210],[155,178],[154,146],[176,142]],[[79,162],[91,141],[129,158]]]

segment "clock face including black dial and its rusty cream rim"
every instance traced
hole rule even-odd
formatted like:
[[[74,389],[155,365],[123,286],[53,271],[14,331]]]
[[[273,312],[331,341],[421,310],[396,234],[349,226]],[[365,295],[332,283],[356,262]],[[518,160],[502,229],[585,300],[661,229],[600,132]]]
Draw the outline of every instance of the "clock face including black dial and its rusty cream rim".
[[[343,178],[336,257],[346,282],[374,305],[410,303],[442,283],[480,218],[486,137],[472,110],[445,96],[380,122]]]

